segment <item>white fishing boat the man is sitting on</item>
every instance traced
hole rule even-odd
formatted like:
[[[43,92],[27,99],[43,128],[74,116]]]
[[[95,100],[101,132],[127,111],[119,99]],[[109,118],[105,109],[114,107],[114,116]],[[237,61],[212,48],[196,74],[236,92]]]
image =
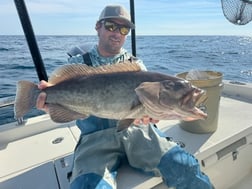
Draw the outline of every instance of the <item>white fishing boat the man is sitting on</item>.
[[[43,67],[38,70],[43,77]],[[157,126],[183,142],[216,189],[250,189],[252,83],[223,80],[222,84],[214,132],[189,132],[180,121],[160,121]],[[13,106],[13,98],[0,102],[1,107]],[[79,135],[75,122],[58,124],[47,114],[1,125],[0,189],[67,189]],[[119,189],[167,188],[162,178],[146,175],[127,163],[120,167],[117,179]]]

